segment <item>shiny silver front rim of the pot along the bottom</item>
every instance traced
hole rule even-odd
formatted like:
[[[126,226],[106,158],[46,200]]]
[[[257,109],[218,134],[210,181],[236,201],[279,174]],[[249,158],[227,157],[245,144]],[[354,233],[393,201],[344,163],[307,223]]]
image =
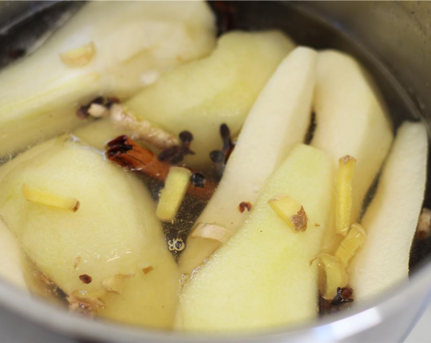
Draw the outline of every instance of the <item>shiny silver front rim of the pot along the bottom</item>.
[[[304,9],[302,9],[304,11]],[[307,12],[307,11],[304,11]],[[323,22],[328,21],[320,18]],[[333,26],[330,22],[329,25]],[[351,40],[346,32],[340,32]],[[355,42],[361,50],[362,44]],[[367,54],[369,55],[369,54]],[[374,60],[374,58],[373,58]],[[381,63],[378,63],[381,65]],[[383,65],[381,65],[383,66]],[[385,66],[384,69],[387,70]],[[391,73],[387,71],[390,75]],[[400,86],[400,83],[396,83]],[[411,103],[411,101],[410,101]],[[428,127],[428,126],[427,126]],[[431,285],[431,261],[424,263],[409,280],[405,280],[381,295],[377,301],[354,304],[348,311],[317,318],[293,328],[275,327],[270,330],[239,334],[186,334],[178,331],[161,331],[146,327],[134,327],[105,320],[88,318],[67,312],[64,308],[50,305],[30,293],[17,289],[6,280],[0,280],[0,305],[41,324],[50,330],[71,337],[102,341],[173,341],[173,342],[262,342],[262,341],[342,341],[354,334],[380,324],[384,319],[397,315],[409,299],[420,296],[425,301],[422,311],[431,299],[431,290],[423,294],[423,285]],[[402,305],[402,306],[401,306]],[[414,324],[414,323],[413,323]]]

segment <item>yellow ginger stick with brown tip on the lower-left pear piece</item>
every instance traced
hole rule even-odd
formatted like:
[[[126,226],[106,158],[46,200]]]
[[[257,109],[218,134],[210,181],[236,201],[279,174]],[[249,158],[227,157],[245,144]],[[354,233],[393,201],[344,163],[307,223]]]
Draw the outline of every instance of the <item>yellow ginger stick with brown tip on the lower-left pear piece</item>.
[[[22,194],[31,202],[52,206],[66,211],[76,212],[79,208],[79,201],[76,198],[51,193],[47,190],[38,189],[33,186],[22,184]]]

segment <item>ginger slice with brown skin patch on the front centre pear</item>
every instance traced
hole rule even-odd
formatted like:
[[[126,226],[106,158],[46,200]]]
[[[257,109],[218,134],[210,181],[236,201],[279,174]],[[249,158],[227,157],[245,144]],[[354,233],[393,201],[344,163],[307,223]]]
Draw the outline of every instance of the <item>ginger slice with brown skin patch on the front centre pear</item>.
[[[305,231],[308,217],[303,206],[287,195],[277,195],[268,204],[295,232]]]

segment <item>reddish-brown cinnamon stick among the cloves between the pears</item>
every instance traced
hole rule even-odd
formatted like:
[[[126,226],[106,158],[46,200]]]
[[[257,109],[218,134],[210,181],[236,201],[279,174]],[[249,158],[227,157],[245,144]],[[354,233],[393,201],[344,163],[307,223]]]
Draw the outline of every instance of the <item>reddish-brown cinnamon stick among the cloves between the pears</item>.
[[[164,182],[170,166],[161,162],[157,155],[147,148],[138,145],[127,135],[121,135],[107,144],[106,157],[112,162],[131,170]],[[208,199],[216,185],[211,179],[206,179],[203,187],[190,183],[187,193],[201,199]]]

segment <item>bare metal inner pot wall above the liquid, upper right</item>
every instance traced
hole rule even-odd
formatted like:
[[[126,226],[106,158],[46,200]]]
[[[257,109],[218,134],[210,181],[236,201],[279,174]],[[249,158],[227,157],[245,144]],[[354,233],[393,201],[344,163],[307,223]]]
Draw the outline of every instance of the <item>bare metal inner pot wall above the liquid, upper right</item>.
[[[306,1],[299,6],[324,17],[369,50],[430,119],[431,3]]]

